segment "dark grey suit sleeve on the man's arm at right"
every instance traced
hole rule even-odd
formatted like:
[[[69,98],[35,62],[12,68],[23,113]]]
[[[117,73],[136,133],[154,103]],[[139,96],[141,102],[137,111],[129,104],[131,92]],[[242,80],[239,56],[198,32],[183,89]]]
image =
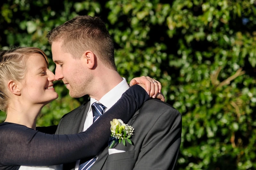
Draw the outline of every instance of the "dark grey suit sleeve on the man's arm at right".
[[[181,124],[176,109],[163,111],[145,136],[134,170],[174,169],[181,143]]]

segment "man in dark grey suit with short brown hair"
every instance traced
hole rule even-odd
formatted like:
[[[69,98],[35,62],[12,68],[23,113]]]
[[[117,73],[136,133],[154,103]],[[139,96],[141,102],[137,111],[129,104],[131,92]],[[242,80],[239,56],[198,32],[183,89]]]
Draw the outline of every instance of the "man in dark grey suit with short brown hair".
[[[56,80],[66,84],[71,97],[91,97],[90,102],[62,117],[56,133],[81,132],[93,123],[91,104],[103,104],[107,111],[129,88],[117,72],[111,36],[101,19],[78,16],[51,30],[47,38],[56,63]],[[133,145],[116,144],[114,151],[121,153],[111,155],[106,147],[96,158],[63,165],[63,169],[174,168],[181,142],[181,115],[176,109],[152,99],[145,102],[128,125],[135,129]],[[85,164],[91,165],[87,168]]]

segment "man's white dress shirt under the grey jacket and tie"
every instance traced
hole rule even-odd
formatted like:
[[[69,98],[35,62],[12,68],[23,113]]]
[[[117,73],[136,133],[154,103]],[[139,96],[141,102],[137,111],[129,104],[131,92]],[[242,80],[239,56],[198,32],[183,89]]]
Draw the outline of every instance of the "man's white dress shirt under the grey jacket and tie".
[[[86,116],[86,120],[85,120],[85,124],[84,124],[84,131],[86,131],[87,128],[89,128],[93,124],[92,104],[94,102],[103,104],[106,107],[104,112],[106,112],[121,98],[123,93],[128,89],[129,89],[129,85],[128,85],[126,79],[123,78],[123,81],[121,81],[113,89],[111,89],[109,92],[107,92],[99,101],[97,101],[94,98],[90,98],[90,107],[87,112],[87,116]],[[75,170],[78,170],[79,162],[80,162],[80,160],[78,160],[76,162]]]

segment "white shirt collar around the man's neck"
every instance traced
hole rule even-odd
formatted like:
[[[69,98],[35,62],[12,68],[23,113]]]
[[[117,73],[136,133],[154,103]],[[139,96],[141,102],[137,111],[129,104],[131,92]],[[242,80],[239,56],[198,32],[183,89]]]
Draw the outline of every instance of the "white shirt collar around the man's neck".
[[[113,89],[107,92],[99,101],[94,98],[90,98],[91,104],[94,102],[99,102],[107,107],[107,109],[111,108],[123,95],[123,93],[129,89],[128,83],[125,78],[116,85]]]

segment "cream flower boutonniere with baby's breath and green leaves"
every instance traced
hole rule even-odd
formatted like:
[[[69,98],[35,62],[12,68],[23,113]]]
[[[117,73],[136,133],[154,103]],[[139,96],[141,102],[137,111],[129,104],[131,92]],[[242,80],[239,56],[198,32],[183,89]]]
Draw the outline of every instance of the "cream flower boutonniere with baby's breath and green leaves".
[[[121,119],[113,119],[111,124],[111,137],[109,138],[109,148],[113,148],[114,144],[119,142],[126,145],[126,141],[132,144],[130,137],[133,135],[134,128],[125,124]]]

